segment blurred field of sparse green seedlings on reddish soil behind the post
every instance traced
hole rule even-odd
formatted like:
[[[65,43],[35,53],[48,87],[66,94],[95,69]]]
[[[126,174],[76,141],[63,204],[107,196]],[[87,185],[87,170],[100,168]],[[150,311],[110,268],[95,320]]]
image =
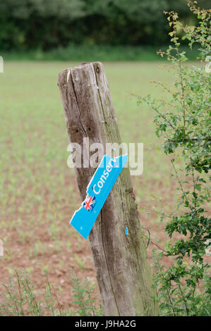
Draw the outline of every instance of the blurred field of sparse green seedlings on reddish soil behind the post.
[[[150,80],[170,85],[174,77],[160,64],[104,63],[122,139],[144,143],[144,173],[133,177],[133,187],[141,223],[150,229],[153,240],[163,236],[154,211],[157,201],[171,208],[176,190],[169,182],[169,161],[154,134],[152,111],[136,106],[130,94],[162,94]],[[0,237],[4,241],[0,282],[8,285],[9,275],[15,277],[13,266],[25,268],[42,298],[48,275],[67,309],[70,268],[80,279],[86,275],[95,282],[98,298],[89,243],[68,225],[80,198],[74,171],[66,165],[68,138],[56,80],[61,70],[74,65],[78,63],[6,61],[0,73]],[[2,302],[0,297],[0,306]],[[71,308],[77,310],[74,304]]]

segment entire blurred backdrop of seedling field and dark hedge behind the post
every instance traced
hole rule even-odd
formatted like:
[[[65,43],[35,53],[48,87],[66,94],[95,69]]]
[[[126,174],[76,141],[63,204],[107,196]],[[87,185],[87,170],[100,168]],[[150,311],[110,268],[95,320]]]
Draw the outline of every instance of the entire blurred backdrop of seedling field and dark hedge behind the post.
[[[198,0],[204,8],[208,3]],[[170,88],[174,82],[156,54],[169,44],[163,11],[177,11],[183,23],[195,24],[186,0],[1,1],[1,283],[15,281],[14,267],[23,268],[42,301],[48,276],[61,307],[74,310],[71,269],[80,280],[88,277],[99,299],[89,241],[68,224],[80,197],[66,164],[68,137],[57,87],[58,73],[83,61],[103,62],[123,142],[144,143],[143,175],[132,177],[140,223],[159,246],[169,239],[159,212],[169,215],[176,204],[171,165],[155,136],[152,110],[130,97],[135,92],[168,98],[150,84],[157,80]],[[182,48],[188,51],[184,43]],[[188,51],[190,59],[196,55],[197,46]],[[151,243],[147,249],[151,264],[153,248]],[[1,287],[0,315],[3,294]]]

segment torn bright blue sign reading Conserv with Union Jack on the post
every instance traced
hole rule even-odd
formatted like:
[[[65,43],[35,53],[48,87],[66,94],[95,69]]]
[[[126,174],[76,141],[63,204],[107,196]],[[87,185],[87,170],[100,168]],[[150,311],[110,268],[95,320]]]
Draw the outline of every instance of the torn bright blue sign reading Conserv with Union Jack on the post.
[[[88,239],[92,226],[127,161],[128,154],[116,158],[104,155],[90,180],[85,201],[75,211],[70,222],[85,239]]]

